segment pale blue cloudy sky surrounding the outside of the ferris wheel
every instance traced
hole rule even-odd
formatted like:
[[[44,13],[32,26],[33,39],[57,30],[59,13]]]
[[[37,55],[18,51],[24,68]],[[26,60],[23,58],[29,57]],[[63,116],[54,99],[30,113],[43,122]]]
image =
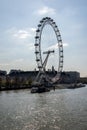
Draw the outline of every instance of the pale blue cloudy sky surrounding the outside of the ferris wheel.
[[[60,29],[63,70],[87,76],[87,0],[0,0],[0,70],[37,67],[35,29],[46,16]]]

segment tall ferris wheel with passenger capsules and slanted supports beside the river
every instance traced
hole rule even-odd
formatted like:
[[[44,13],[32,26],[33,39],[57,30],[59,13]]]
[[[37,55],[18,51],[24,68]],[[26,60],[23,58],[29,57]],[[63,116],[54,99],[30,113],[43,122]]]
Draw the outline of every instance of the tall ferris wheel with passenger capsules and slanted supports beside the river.
[[[35,55],[36,55],[37,66],[39,69],[39,73],[36,77],[37,81],[40,80],[42,75],[45,75],[45,77],[47,77],[46,76],[46,65],[48,62],[48,58],[51,53],[55,53],[55,49],[49,49],[44,52],[42,52],[42,49],[41,49],[42,31],[43,31],[43,28],[48,24],[53,28],[55,35],[56,35],[58,58],[59,58],[58,65],[57,65],[57,74],[55,75],[55,77],[53,77],[53,79],[59,79],[59,76],[63,69],[63,44],[62,44],[61,34],[58,29],[58,26],[56,25],[54,20],[51,19],[50,17],[42,18],[42,20],[38,24],[38,28],[36,30],[36,36],[35,36]],[[46,57],[43,60],[42,55],[44,55],[44,54],[46,55]]]

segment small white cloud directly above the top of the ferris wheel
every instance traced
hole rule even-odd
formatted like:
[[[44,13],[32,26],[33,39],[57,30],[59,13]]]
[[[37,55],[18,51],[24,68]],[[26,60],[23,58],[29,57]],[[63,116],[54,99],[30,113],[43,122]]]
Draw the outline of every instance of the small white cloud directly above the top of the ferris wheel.
[[[43,8],[39,9],[37,11],[37,14],[39,15],[46,15],[46,14],[55,14],[55,9],[44,6]]]

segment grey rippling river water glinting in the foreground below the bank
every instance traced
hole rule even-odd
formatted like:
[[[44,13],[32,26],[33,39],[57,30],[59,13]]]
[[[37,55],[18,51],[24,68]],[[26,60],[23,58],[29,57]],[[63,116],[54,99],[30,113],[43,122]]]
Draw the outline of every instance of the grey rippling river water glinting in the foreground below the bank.
[[[0,92],[0,130],[87,130],[87,86]]]

